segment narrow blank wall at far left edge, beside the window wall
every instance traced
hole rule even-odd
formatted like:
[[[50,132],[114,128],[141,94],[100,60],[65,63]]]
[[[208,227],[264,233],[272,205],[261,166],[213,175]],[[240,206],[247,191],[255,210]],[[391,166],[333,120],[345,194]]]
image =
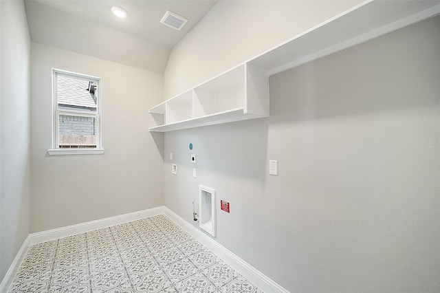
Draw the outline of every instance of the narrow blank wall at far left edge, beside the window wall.
[[[22,1],[0,1],[0,12],[1,281],[29,234],[30,37]]]

